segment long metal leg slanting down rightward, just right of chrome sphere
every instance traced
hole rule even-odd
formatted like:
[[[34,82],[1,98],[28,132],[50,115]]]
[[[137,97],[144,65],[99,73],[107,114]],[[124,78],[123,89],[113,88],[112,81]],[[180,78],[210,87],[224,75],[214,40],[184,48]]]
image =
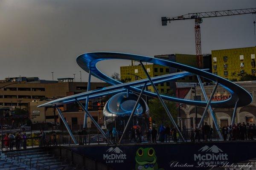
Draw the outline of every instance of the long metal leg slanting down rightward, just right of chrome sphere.
[[[165,109],[167,115],[169,116],[169,118],[170,118],[172,124],[175,126],[175,128],[176,128],[177,131],[178,131],[178,133],[180,134],[180,137],[181,137],[182,141],[184,141],[184,138],[183,138],[182,134],[180,133],[180,129],[178,128],[177,124],[175,123],[175,121],[174,121],[174,119],[173,119],[173,117],[172,117],[170,111],[168,110],[168,108],[167,108],[166,104],[164,103],[162,97],[160,96],[159,92],[157,91],[157,88],[156,88],[156,86],[154,85],[154,82],[153,82],[152,79],[150,78],[150,76],[149,76],[147,70],[145,69],[145,66],[143,65],[143,63],[142,63],[141,61],[140,61],[140,65],[142,66],[143,71],[145,72],[146,76],[148,77],[149,82],[151,83],[152,87],[154,88],[154,91],[156,92],[156,94],[157,94],[157,96],[158,96],[158,98],[159,98],[161,104],[163,105],[163,108]]]

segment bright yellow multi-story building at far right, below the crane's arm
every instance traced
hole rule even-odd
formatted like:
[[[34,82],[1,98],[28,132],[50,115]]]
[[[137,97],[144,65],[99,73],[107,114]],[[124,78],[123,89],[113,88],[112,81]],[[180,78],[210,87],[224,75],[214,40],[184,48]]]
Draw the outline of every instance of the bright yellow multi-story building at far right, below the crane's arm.
[[[212,50],[212,73],[236,79],[234,73],[256,74],[256,47]]]

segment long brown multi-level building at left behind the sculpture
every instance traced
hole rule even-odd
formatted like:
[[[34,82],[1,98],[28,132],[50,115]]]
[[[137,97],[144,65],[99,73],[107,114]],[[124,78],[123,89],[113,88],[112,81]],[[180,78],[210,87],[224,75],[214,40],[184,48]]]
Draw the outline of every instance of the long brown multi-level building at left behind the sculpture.
[[[106,86],[108,86],[108,83],[105,82],[91,82],[90,88],[91,90],[95,90]],[[31,115],[33,113],[29,109],[31,108],[30,105],[37,107],[32,101],[56,99],[85,91],[87,91],[87,82],[73,82],[73,78],[58,79],[58,81],[26,77],[6,78],[6,80],[0,82],[0,106],[15,106],[21,109],[27,108],[29,115]],[[105,102],[104,98],[91,100],[89,102],[89,110],[98,110],[96,107],[91,106],[97,105],[99,101],[101,103]],[[62,110],[79,111],[79,107],[69,104],[64,105]],[[44,119],[46,122],[54,122],[54,111],[52,108],[46,109]]]

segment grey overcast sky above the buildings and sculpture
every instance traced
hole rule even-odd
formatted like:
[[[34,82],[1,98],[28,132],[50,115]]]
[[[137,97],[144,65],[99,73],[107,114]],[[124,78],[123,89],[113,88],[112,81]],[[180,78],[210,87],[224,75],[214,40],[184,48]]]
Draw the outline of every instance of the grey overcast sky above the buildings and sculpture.
[[[256,0],[0,0],[0,79],[73,77],[76,57],[93,51],[146,56],[195,54],[194,20],[161,26],[161,17],[192,12],[255,8]],[[255,46],[253,20],[245,14],[207,18],[202,53]],[[124,60],[104,61],[111,75]],[[87,81],[82,71],[82,80]],[[92,81],[99,81],[96,78]]]

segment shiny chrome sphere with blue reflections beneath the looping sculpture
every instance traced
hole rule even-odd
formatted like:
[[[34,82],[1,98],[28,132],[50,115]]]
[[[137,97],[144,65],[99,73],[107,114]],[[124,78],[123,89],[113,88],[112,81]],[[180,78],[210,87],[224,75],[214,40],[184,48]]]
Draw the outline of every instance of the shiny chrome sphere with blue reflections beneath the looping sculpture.
[[[112,130],[113,127],[116,127],[118,131],[123,131],[138,97],[139,96],[134,93],[129,93],[127,96],[125,92],[112,96],[103,109],[105,127],[108,130]],[[131,119],[129,128],[134,125],[140,125],[143,130],[148,128],[148,115],[148,105],[145,100],[141,98],[134,112],[134,116]]]

